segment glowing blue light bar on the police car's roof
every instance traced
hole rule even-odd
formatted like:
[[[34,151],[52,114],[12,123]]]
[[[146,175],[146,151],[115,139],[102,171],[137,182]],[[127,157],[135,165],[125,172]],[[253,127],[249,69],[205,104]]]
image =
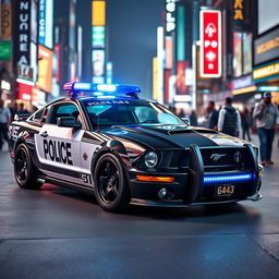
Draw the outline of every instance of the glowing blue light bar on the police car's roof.
[[[93,93],[122,93],[137,94],[141,92],[138,86],[122,85],[122,84],[96,84],[96,83],[66,83],[63,86],[64,90],[70,92],[93,92]]]

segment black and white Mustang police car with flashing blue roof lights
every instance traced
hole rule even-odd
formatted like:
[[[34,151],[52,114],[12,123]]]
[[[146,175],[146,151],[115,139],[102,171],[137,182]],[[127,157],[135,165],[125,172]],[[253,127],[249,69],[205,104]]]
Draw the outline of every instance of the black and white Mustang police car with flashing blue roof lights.
[[[23,189],[53,183],[95,193],[116,211],[128,204],[184,207],[262,198],[257,148],[194,128],[137,86],[68,83],[54,100],[10,126]]]

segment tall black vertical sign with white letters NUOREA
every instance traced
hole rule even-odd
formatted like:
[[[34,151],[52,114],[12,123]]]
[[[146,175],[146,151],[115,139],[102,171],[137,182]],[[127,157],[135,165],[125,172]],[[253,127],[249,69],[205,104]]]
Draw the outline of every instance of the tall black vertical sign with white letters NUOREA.
[[[31,62],[31,0],[15,2],[14,63]]]

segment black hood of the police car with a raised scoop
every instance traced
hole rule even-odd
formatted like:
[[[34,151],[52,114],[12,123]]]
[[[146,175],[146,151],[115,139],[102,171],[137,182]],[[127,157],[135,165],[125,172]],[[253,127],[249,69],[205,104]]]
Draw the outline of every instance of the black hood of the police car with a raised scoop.
[[[125,140],[145,148],[189,148],[192,144],[203,146],[243,146],[245,143],[214,130],[187,125],[125,125],[101,131],[114,140]]]

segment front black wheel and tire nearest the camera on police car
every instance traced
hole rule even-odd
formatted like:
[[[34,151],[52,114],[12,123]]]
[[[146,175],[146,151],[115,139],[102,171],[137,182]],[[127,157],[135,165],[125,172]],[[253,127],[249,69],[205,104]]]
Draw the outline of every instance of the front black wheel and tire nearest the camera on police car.
[[[95,195],[106,211],[119,211],[131,201],[125,173],[113,154],[102,155],[94,170]]]

